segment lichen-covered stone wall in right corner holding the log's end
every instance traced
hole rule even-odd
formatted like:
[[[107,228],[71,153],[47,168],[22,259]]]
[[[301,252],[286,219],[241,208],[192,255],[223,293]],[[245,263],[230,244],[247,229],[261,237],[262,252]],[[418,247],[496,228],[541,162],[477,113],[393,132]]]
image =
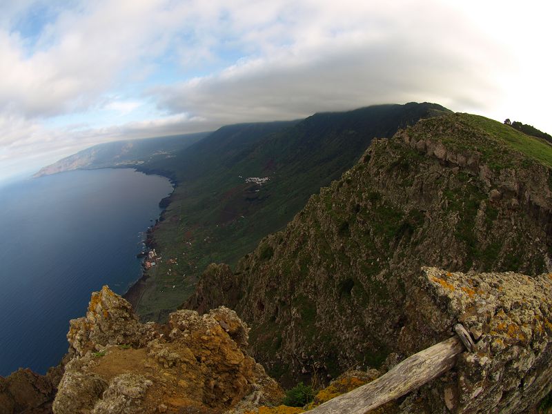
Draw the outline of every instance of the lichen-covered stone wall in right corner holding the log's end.
[[[417,286],[400,335],[404,354],[453,335],[457,322],[471,333],[475,352],[460,354],[453,370],[407,399],[401,412],[521,413],[552,390],[552,274],[424,268]]]

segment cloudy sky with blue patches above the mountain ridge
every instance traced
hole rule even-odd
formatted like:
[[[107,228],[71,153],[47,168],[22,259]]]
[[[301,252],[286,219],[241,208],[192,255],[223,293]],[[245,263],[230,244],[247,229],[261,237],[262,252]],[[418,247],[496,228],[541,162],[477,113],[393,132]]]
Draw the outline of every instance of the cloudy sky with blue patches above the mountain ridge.
[[[431,101],[552,133],[546,1],[0,0],[0,181],[89,146]]]

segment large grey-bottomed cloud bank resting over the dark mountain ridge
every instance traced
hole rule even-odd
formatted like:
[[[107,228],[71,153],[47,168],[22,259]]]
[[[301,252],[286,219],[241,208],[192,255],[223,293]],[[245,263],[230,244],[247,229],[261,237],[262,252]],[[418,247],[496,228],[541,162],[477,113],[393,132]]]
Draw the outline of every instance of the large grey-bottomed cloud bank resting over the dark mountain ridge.
[[[150,94],[162,110],[221,123],[397,101],[489,106],[501,92],[489,72],[509,67],[506,50],[450,8],[432,4],[433,14],[425,14],[419,2],[406,3],[400,13],[373,6],[352,12],[341,2],[311,10],[313,21],[286,27],[288,37],[295,30],[290,45]]]

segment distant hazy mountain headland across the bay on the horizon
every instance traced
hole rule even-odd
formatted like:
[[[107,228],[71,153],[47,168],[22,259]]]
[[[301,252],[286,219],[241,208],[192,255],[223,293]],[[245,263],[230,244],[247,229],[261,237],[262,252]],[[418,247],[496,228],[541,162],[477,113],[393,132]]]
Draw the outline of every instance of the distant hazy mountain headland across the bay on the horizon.
[[[167,160],[174,157],[175,152],[195,144],[209,133],[198,132],[196,134],[128,139],[98,144],[60,159],[50,166],[41,168],[34,177],[78,169],[138,167],[159,159]],[[171,177],[171,172],[169,170],[166,172],[168,172],[166,175]]]

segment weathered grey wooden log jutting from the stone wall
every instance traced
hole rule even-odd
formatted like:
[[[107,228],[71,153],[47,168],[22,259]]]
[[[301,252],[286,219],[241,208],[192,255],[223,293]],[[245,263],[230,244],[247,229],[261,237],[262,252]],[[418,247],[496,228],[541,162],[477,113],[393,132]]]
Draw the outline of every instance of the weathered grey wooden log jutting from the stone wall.
[[[463,351],[460,338],[451,337],[404,359],[377,380],[339,395],[308,413],[364,414],[446,373],[455,366],[456,355]]]

